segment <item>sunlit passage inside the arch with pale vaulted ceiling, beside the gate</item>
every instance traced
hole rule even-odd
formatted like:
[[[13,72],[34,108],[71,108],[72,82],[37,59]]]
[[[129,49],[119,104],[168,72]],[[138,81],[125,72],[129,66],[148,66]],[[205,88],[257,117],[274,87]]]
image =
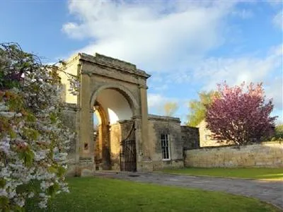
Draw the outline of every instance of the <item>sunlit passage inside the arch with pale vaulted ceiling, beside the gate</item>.
[[[94,136],[96,170],[120,170],[120,145],[133,125],[137,102],[126,88],[109,85],[93,92],[91,105],[100,120],[98,130],[91,132]],[[134,150],[135,146],[136,143]],[[136,158],[137,153],[133,154]]]

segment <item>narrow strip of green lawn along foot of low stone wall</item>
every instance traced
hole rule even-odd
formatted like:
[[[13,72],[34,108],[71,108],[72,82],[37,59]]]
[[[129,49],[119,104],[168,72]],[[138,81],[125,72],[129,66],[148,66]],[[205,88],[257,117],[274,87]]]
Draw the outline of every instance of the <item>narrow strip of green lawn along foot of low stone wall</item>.
[[[212,176],[212,177],[238,177],[251,179],[283,179],[283,169],[279,168],[202,168],[187,167],[183,169],[166,169],[166,173],[195,175],[195,176]]]

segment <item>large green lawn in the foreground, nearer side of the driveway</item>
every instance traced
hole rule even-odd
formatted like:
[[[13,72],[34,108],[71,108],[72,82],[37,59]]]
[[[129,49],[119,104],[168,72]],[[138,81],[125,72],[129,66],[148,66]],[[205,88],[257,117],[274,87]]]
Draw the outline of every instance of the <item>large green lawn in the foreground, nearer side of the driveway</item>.
[[[258,199],[95,177],[68,179],[70,193],[52,199],[47,211],[278,211]],[[40,211],[28,202],[26,211]]]

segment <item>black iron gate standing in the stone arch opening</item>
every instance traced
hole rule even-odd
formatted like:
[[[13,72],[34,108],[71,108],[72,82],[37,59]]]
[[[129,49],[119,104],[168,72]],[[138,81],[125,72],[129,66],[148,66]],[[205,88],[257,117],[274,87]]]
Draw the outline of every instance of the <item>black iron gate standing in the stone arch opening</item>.
[[[120,169],[121,171],[137,171],[136,139],[134,135],[134,123],[127,138],[120,143]]]

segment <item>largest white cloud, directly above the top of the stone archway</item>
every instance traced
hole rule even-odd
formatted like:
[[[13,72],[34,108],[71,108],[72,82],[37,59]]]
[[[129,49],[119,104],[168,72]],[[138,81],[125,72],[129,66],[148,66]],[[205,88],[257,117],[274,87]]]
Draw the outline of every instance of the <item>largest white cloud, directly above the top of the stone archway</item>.
[[[192,64],[224,42],[234,1],[69,1],[77,21],[62,30],[91,39],[79,49],[99,52],[150,71]]]

